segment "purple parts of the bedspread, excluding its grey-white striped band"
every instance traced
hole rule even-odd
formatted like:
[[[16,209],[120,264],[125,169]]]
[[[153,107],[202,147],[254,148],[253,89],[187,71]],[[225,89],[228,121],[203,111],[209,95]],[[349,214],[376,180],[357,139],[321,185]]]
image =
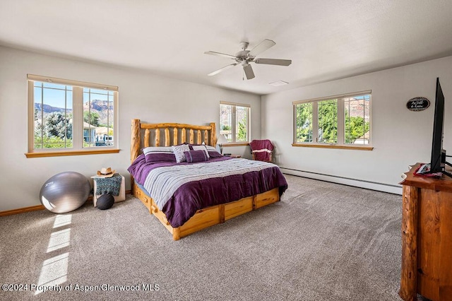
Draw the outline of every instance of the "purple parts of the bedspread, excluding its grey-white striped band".
[[[210,158],[209,162],[229,160],[228,157]],[[234,160],[230,162],[233,164]],[[150,170],[172,165],[195,165],[199,163],[146,163],[144,155],[129,167],[129,172],[138,184],[145,183]],[[233,165],[231,166],[233,168]],[[208,206],[237,201],[247,196],[254,196],[279,187],[280,195],[287,189],[287,182],[277,165],[269,164],[263,170],[246,172],[242,175],[211,177],[194,182],[187,182],[177,189],[162,208],[163,213],[173,228],[180,227],[194,216],[196,211]]]

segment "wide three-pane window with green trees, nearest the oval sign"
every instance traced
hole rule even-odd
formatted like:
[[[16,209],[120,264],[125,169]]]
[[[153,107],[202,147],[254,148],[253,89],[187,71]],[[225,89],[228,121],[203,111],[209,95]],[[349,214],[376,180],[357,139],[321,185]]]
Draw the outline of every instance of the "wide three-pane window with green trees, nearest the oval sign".
[[[293,102],[294,146],[371,149],[371,91]]]

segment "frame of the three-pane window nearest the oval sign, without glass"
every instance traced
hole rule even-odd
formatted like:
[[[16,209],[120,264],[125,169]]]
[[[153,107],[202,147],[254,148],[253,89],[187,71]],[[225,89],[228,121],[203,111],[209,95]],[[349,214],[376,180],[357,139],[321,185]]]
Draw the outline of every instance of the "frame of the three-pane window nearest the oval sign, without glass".
[[[355,96],[369,95],[369,144],[352,144],[345,143],[345,106],[344,102],[347,98]],[[337,113],[337,143],[321,143],[319,142],[319,110],[318,104],[321,101],[336,100],[338,106]],[[312,104],[312,141],[299,142],[297,141],[297,105],[311,103]],[[371,151],[371,90],[360,91],[356,93],[348,93],[341,95],[328,96],[326,98],[314,98],[310,100],[299,100],[292,102],[293,105],[293,143],[292,146],[302,147],[318,147],[318,148],[348,148],[355,150]]]

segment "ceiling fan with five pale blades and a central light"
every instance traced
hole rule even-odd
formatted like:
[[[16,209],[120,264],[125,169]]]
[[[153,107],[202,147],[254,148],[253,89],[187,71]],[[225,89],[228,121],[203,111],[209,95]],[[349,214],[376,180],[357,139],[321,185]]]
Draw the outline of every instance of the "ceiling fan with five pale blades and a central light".
[[[228,59],[234,59],[236,62],[234,64],[227,65],[222,67],[221,69],[215,70],[211,73],[208,73],[208,76],[214,76],[215,74],[220,73],[226,69],[230,69],[233,66],[242,65],[243,71],[245,73],[246,79],[254,78],[254,72],[249,63],[256,64],[266,64],[266,65],[278,65],[278,66],[289,66],[292,64],[291,59],[260,59],[256,58],[258,54],[266,51],[268,48],[276,45],[272,40],[263,40],[256,47],[251,50],[246,50],[248,47],[248,42],[240,42],[241,51],[237,52],[235,55],[232,54],[224,54],[220,52],[207,51],[205,54],[216,55],[218,57],[227,57]]]

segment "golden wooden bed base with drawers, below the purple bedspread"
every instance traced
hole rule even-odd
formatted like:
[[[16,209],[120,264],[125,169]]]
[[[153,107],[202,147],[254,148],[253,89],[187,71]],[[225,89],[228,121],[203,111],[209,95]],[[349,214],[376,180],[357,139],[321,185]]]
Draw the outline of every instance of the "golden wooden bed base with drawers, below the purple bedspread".
[[[165,213],[160,211],[153,199],[150,198],[148,194],[145,194],[145,192],[135,183],[133,184],[133,195],[141,200],[144,206],[148,208],[150,214],[160,220],[160,223],[162,223],[162,225],[164,225],[172,234],[173,240],[179,240],[181,237],[190,235],[191,233],[198,232],[199,230],[219,223],[224,223],[226,220],[241,216],[244,213],[280,200],[279,189],[275,188],[262,194],[257,194],[256,196],[239,199],[239,201],[232,201],[230,203],[203,208],[196,211],[196,214],[184,223],[184,225],[179,228],[172,228],[168,223]]]

